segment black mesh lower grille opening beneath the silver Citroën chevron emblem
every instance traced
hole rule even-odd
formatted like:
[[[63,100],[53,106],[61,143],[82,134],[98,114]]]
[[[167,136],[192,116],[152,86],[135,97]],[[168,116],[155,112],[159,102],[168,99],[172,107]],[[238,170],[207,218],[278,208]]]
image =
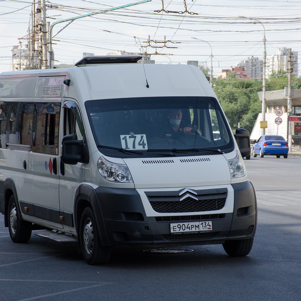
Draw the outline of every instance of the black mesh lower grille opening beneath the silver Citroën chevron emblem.
[[[220,210],[225,206],[226,198],[194,200],[191,197],[180,201],[151,201],[152,208],[159,213],[201,212]]]

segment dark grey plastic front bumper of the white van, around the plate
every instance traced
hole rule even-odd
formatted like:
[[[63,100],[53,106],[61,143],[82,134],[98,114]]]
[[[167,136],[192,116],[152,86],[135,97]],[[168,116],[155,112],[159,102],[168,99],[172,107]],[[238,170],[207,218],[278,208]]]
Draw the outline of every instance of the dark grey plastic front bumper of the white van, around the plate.
[[[95,189],[100,212],[98,225],[103,245],[202,245],[222,244],[229,239],[254,237],[257,222],[256,195],[253,185],[247,181],[232,184],[234,189],[234,213],[202,215],[179,213],[178,216],[146,216],[141,197],[134,188]],[[95,202],[93,202],[95,204]],[[98,211],[98,210],[97,210]],[[209,221],[213,231],[195,234],[170,234],[170,223]]]

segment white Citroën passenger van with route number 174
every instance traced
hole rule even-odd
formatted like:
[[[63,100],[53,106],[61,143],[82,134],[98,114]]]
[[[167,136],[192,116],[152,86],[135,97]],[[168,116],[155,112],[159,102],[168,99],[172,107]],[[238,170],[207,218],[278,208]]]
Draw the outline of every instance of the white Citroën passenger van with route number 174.
[[[246,256],[257,222],[248,131],[233,135],[197,67],[139,59],[0,74],[0,212],[11,239],[34,230],[77,241],[88,264],[116,245],[222,244]]]

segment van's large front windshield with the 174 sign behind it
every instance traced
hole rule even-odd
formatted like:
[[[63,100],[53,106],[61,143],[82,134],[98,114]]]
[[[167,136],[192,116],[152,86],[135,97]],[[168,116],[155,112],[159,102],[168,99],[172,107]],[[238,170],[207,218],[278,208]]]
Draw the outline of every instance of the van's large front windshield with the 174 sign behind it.
[[[93,100],[85,107],[95,143],[107,156],[218,154],[234,147],[219,103],[211,97]]]

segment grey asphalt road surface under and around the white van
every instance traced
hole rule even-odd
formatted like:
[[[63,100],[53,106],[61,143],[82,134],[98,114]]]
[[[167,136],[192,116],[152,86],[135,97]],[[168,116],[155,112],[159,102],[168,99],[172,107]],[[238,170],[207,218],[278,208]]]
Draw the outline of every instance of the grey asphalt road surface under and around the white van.
[[[301,158],[244,160],[256,189],[251,253],[221,245],[190,253],[116,247],[106,265],[87,265],[76,245],[32,235],[14,244],[0,216],[0,300],[300,300]]]

